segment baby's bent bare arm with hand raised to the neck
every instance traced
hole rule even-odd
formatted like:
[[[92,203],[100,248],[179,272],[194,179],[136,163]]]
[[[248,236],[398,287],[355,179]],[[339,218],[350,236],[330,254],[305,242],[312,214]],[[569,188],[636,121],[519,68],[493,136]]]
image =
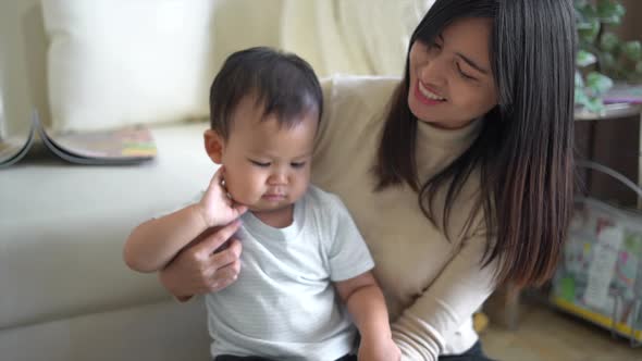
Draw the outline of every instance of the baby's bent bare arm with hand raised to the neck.
[[[243,214],[247,209],[229,199],[221,186],[223,172],[221,166],[200,202],[138,225],[125,242],[125,263],[139,272],[161,270],[206,229]]]

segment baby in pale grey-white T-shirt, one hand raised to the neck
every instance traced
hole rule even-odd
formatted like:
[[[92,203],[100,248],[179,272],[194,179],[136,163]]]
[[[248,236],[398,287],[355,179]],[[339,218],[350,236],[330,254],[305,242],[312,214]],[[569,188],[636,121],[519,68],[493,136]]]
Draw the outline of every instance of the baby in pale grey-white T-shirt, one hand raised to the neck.
[[[356,360],[357,331],[359,360],[399,359],[361,235],[336,196],[309,184],[322,108],[300,58],[270,48],[232,54],[212,84],[205,133],[221,166],[200,200],[126,241],[127,265],[153,272],[240,217],[238,277],[206,296],[217,361]]]

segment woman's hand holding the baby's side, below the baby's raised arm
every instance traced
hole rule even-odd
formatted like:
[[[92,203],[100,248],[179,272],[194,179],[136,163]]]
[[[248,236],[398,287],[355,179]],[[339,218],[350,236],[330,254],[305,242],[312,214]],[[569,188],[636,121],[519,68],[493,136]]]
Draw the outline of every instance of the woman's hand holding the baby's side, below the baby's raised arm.
[[[163,287],[186,301],[194,295],[218,291],[234,283],[240,270],[242,246],[231,237],[239,226],[240,222],[234,221],[197,237],[159,271]]]

